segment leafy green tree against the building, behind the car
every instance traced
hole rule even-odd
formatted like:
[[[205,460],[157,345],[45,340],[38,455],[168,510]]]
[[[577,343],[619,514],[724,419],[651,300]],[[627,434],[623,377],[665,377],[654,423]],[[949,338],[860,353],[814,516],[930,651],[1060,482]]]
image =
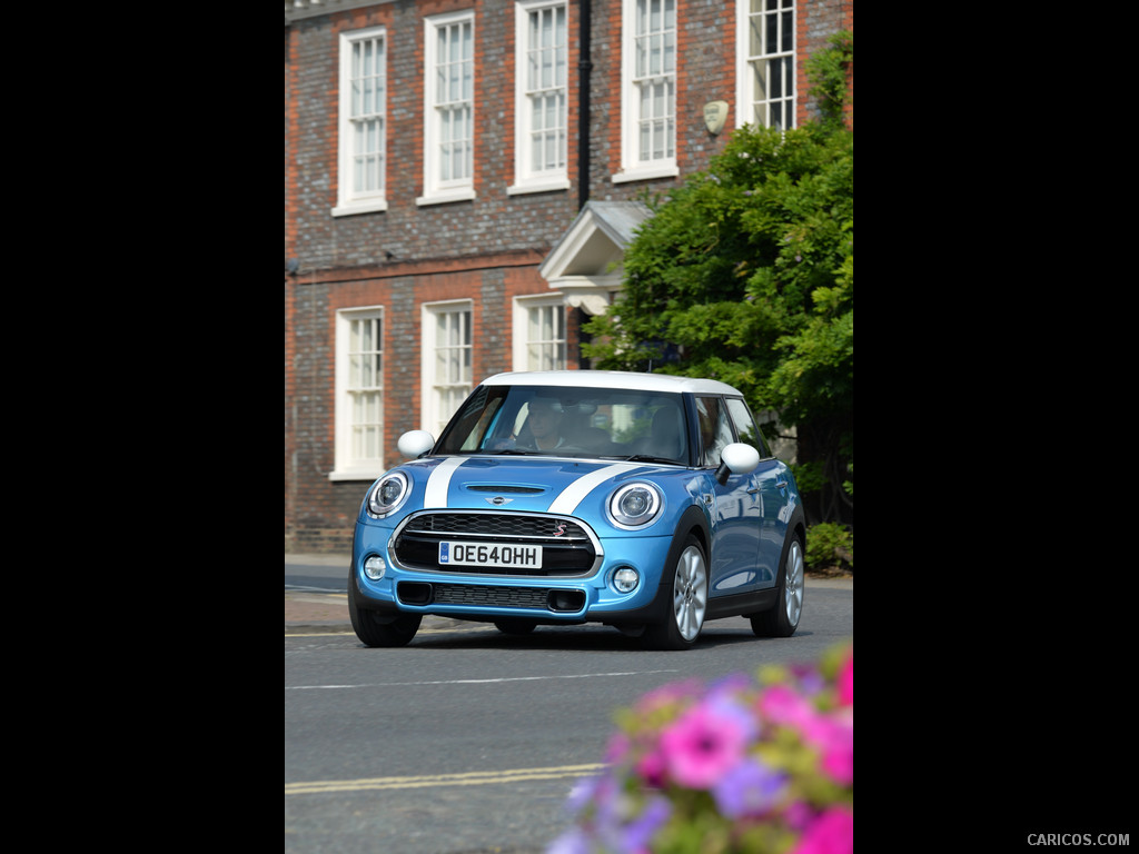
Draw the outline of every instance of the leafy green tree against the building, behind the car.
[[[735,131],[706,172],[647,199],[622,295],[582,350],[736,386],[794,427],[812,520],[853,522],[854,142],[828,105],[795,130]]]

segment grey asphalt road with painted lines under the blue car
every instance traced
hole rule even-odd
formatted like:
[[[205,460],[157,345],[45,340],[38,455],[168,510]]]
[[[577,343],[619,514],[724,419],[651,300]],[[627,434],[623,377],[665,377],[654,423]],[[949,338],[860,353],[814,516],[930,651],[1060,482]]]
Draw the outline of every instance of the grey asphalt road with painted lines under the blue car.
[[[287,566],[286,586],[343,590],[341,575]],[[853,637],[853,582],[816,580],[793,638],[759,639],[732,618],[686,652],[604,626],[513,638],[459,624],[401,649],[351,632],[286,637],[286,854],[543,852],[567,826],[574,782],[604,762],[617,708],[669,682],[813,660]]]

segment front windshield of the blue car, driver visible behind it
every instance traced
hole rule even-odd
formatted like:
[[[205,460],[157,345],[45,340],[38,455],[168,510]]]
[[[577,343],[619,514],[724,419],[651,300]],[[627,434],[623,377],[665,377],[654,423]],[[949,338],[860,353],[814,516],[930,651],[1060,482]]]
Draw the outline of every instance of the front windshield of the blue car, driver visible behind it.
[[[480,386],[436,453],[612,457],[688,465],[679,394],[555,386]]]

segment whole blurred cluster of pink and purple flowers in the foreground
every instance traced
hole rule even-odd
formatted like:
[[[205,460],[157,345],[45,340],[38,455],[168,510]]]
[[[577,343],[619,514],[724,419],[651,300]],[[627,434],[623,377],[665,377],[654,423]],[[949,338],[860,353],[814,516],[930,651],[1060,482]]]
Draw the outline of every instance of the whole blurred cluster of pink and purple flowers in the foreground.
[[[694,828],[770,834],[788,854],[853,854],[853,656],[851,646],[759,683],[736,674],[642,696],[618,717],[608,771],[571,794],[577,827],[547,854],[650,854]]]

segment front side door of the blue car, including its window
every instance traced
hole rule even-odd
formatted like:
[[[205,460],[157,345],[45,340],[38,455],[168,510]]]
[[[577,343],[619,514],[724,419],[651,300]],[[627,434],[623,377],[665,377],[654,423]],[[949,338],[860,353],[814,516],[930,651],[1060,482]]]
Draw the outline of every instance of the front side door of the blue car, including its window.
[[[713,470],[724,446],[736,441],[731,419],[719,396],[696,397],[700,433],[700,465]],[[729,475],[726,483],[712,482],[712,553],[708,555],[711,596],[730,596],[755,590],[763,503],[754,473]]]

